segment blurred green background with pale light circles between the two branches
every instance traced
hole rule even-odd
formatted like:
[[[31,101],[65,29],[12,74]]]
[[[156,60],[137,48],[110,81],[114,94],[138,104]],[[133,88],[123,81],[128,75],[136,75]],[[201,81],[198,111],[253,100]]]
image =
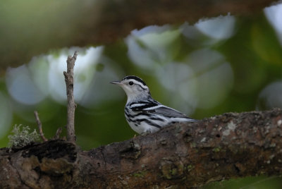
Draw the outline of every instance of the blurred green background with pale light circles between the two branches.
[[[37,22],[51,22],[63,14],[51,12],[45,17],[43,11],[31,17],[29,9],[21,6],[23,3],[1,7],[0,51],[21,56],[16,49],[40,48],[40,39],[46,33],[69,35],[69,30],[56,33],[56,25],[64,23],[42,27],[41,32],[33,34]],[[11,11],[11,7],[16,9]],[[22,22],[26,18],[31,20],[28,24]],[[35,39],[23,42],[21,37],[30,33]],[[50,39],[50,44],[56,42]],[[282,5],[278,4],[255,16],[227,14],[193,25],[147,26],[104,46],[53,45],[30,61],[6,68],[0,78],[0,147],[8,144],[15,124],[37,128],[35,110],[47,138],[53,137],[59,127],[63,127],[62,135],[66,134],[63,71],[67,56],[75,50],[79,51],[75,64],[75,132],[83,150],[135,135],[123,114],[125,93],[109,83],[125,75],[139,76],[154,99],[192,118],[282,107]],[[264,188],[269,183],[274,188],[282,185],[278,177],[259,177],[216,187]]]

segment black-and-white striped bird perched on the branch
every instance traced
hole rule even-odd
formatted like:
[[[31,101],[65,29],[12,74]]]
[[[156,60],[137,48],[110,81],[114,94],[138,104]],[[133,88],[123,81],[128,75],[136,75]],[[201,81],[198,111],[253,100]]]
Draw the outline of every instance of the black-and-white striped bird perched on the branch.
[[[111,81],[119,85],[127,95],[125,118],[129,126],[138,134],[155,133],[171,123],[197,122],[185,114],[164,106],[152,98],[149,87],[135,75],[125,76],[121,81]]]

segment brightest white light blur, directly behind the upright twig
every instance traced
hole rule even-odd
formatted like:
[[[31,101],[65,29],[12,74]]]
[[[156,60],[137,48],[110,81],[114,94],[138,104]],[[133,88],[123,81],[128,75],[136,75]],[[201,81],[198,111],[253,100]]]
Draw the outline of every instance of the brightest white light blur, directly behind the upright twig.
[[[78,48],[75,48],[78,49]],[[90,87],[95,74],[95,66],[102,54],[102,47],[90,47],[85,53],[78,56],[74,69],[74,96],[77,102],[80,102],[83,95]],[[73,50],[63,51],[59,56],[49,55],[49,88],[51,97],[56,102],[64,103],[66,101],[66,83],[63,71],[66,71],[66,59]]]

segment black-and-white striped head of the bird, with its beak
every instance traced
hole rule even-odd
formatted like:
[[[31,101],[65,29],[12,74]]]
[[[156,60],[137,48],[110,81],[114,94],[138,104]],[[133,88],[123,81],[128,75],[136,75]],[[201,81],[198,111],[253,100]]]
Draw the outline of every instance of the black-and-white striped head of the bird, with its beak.
[[[123,88],[128,96],[128,102],[151,97],[149,87],[147,87],[146,83],[141,78],[135,75],[129,75],[121,81],[112,81],[111,83]]]

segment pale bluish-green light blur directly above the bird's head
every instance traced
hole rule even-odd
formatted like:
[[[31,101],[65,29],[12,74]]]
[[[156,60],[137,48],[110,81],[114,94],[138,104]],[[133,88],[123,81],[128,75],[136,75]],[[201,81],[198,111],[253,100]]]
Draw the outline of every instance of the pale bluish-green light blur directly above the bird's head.
[[[173,30],[168,25],[133,30],[125,39],[128,57],[146,71],[155,70],[173,60],[173,56],[179,50],[176,43],[179,36],[180,30]]]

